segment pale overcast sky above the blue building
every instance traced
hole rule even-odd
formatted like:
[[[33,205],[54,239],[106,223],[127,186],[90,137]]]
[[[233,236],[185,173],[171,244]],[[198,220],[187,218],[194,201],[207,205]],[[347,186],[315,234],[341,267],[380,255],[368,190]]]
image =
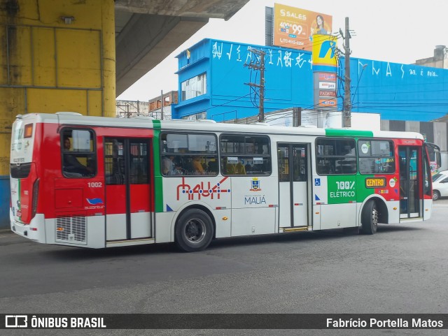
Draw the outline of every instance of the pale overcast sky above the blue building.
[[[265,45],[265,7],[274,3],[331,15],[333,32],[344,31],[349,17],[351,57],[412,64],[433,57],[436,45],[448,46],[447,0],[250,0],[228,21],[210,19],[118,99],[148,101],[161,91],[176,91],[176,55],[204,38]]]

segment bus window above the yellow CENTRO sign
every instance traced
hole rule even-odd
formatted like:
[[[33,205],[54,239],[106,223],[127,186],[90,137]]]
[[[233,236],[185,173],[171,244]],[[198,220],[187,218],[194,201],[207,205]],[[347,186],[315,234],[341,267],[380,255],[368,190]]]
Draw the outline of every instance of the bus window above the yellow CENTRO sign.
[[[395,173],[393,143],[388,140],[358,140],[358,164],[361,174]]]

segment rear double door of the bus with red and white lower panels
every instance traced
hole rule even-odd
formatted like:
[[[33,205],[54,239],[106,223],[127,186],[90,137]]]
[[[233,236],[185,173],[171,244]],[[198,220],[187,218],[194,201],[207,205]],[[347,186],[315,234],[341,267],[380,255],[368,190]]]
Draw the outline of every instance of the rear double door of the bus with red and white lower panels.
[[[104,139],[106,241],[152,237],[150,142]]]

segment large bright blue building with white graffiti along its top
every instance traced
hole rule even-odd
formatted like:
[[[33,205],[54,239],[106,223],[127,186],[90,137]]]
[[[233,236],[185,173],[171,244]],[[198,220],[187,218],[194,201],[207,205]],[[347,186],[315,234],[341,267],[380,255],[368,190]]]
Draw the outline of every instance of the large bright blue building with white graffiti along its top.
[[[179,103],[173,118],[223,122],[258,114],[260,71],[253,49],[265,52],[265,112],[300,107],[315,110],[311,52],[204,39],[177,56]],[[344,58],[339,60],[344,78]],[[379,113],[381,119],[428,122],[447,115],[448,71],[413,64],[350,59],[353,112]],[[337,80],[337,110],[344,81]]]

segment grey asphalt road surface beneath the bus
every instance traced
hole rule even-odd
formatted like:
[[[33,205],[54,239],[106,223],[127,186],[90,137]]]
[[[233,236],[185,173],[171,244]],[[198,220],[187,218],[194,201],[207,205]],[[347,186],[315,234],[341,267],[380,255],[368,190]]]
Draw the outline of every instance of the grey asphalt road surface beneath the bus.
[[[448,200],[430,221],[91,250],[0,233],[0,313],[447,313]],[[5,331],[5,330],[0,330]],[[447,335],[446,330],[6,330],[8,335]],[[4,334],[3,334],[4,335]]]

